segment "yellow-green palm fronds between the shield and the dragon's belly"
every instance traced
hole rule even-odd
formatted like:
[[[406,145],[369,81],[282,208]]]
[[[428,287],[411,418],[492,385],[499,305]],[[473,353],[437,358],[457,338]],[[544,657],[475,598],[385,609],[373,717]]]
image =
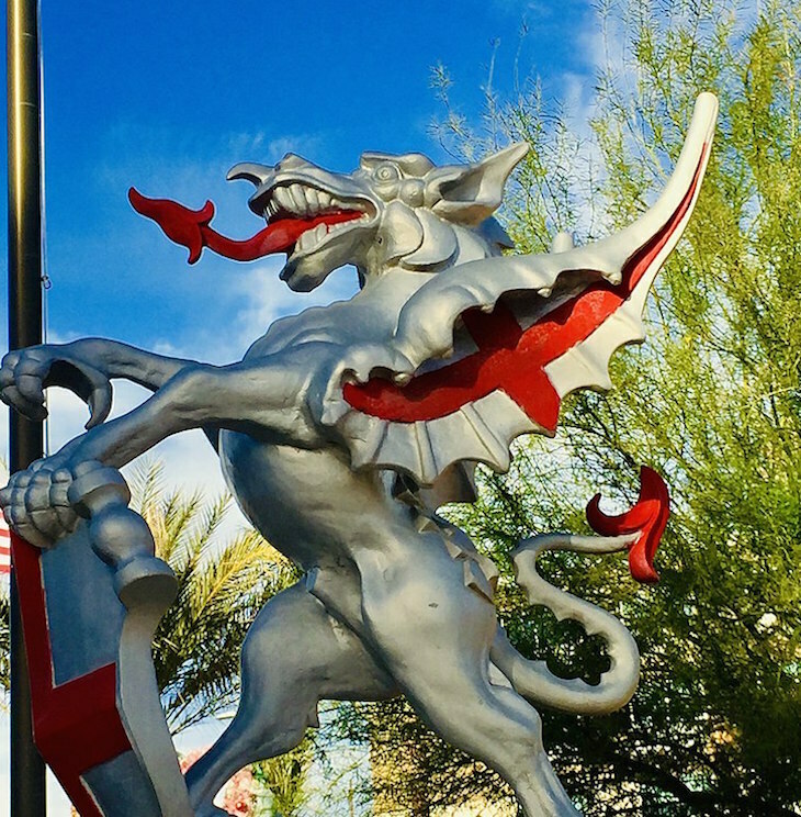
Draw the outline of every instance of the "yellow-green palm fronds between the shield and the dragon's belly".
[[[214,534],[230,497],[166,494],[158,465],[129,479],[132,507],[147,521],[156,555],[174,571],[178,597],[154,639],[154,663],[171,731],[230,708],[239,650],[251,622],[296,569],[255,530],[221,544]]]

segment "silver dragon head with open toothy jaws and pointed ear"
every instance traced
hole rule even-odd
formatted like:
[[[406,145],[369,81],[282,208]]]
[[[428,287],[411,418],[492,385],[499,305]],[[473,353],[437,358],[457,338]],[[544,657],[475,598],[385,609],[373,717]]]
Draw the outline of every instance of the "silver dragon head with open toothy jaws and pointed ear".
[[[460,258],[497,255],[511,246],[493,219],[504,184],[528,152],[511,145],[483,161],[437,167],[421,154],[365,153],[351,174],[325,170],[287,154],[274,167],[241,164],[228,179],[256,186],[250,209],[268,226],[309,226],[282,247],[282,280],[298,292],[352,264],[362,282],[387,267],[436,272]]]

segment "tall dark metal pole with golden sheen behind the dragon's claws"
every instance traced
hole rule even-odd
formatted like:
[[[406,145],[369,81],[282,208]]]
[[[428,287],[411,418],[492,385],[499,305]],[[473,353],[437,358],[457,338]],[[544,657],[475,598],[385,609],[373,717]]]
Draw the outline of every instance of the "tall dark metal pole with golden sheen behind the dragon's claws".
[[[37,0],[8,0],[9,348],[42,343],[42,167]],[[11,412],[9,468],[42,457],[42,423]],[[13,571],[12,571],[13,575]],[[11,817],[44,817],[45,766],[33,745],[31,687],[11,582]]]

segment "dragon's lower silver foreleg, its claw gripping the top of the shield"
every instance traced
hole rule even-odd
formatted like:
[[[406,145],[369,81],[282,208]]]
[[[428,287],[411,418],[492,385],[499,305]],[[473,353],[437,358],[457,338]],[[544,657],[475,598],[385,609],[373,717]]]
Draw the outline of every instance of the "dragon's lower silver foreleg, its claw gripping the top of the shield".
[[[300,448],[325,444],[306,395],[315,373],[309,363],[325,349],[308,346],[319,345],[226,367],[184,365],[142,405],[12,474],[0,490],[5,518],[29,542],[49,548],[81,513],[74,489],[81,475],[100,465],[121,468],[191,428],[232,429]]]

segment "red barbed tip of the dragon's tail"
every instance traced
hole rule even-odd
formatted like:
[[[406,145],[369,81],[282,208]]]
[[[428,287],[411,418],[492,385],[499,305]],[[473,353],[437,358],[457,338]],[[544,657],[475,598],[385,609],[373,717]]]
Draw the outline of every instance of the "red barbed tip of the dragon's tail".
[[[640,469],[640,499],[636,505],[619,516],[607,516],[600,510],[600,494],[587,505],[587,522],[597,534],[620,536],[640,533],[629,548],[629,570],[639,582],[659,581],[654,556],[670,516],[670,496],[665,481],[647,466]]]

